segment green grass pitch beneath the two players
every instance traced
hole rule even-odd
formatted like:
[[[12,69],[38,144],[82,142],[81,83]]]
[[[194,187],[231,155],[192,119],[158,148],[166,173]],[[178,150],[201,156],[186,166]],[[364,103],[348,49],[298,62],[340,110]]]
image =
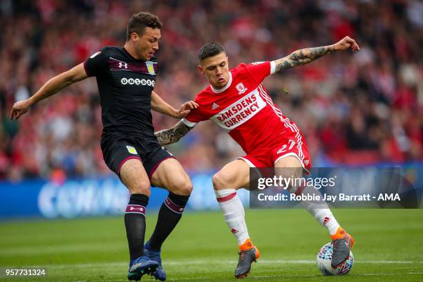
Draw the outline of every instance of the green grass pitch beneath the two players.
[[[348,276],[321,276],[326,229],[302,209],[247,210],[261,259],[243,281],[423,281],[423,209],[338,209],[355,237]],[[147,217],[147,238],[156,214]],[[220,212],[187,212],[164,243],[167,281],[237,281],[236,240]],[[123,217],[0,223],[0,281],[127,281]],[[45,267],[40,278],[10,278],[5,267]],[[153,281],[144,276],[142,281]]]

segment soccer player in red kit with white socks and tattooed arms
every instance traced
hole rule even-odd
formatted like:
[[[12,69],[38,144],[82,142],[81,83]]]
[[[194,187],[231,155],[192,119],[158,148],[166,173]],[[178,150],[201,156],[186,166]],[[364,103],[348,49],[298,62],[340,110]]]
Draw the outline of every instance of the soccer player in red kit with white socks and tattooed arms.
[[[297,168],[308,173],[311,168],[306,140],[294,122],[285,117],[272,102],[262,85],[265,77],[293,66],[308,64],[337,50],[359,50],[354,39],[345,37],[336,44],[294,51],[287,57],[272,62],[239,64],[229,71],[223,46],[216,43],[200,48],[198,68],[209,81],[198,93],[198,108],[171,129],[156,132],[160,144],[177,142],[198,122],[213,120],[241,145],[246,155],[229,162],[213,177],[216,198],[225,221],[238,241],[239,261],[236,278],[250,272],[251,264],[259,258],[245,223],[244,208],[236,190],[249,188],[250,167]],[[289,187],[292,193],[297,187]],[[330,212],[326,203],[316,206],[303,202],[304,207],[326,228],[332,238],[334,254],[332,267],[339,267],[353,247],[350,236]]]

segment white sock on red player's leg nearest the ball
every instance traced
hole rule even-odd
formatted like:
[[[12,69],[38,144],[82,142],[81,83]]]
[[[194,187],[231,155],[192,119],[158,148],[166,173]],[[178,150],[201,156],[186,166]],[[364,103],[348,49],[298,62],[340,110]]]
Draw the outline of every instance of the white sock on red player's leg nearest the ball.
[[[320,194],[319,190],[315,189],[314,187],[306,187],[302,191],[298,191],[298,189],[290,190],[291,193],[299,194]],[[321,198],[323,198],[321,196]],[[335,235],[339,228],[339,223],[337,222],[335,216],[333,216],[332,212],[328,207],[328,204],[323,200],[319,201],[319,203],[309,202],[307,200],[301,201],[301,204],[307,211],[316,218],[317,222],[320,225],[326,227],[330,236]]]

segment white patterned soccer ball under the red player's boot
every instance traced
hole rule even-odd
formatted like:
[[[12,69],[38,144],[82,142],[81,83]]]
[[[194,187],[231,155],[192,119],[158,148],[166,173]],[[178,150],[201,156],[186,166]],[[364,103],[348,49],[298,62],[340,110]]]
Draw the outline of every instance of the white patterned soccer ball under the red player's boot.
[[[332,254],[333,254],[333,246],[332,243],[327,243],[319,250],[317,254],[317,267],[321,274],[328,276],[328,275],[346,275],[350,272],[351,268],[353,268],[354,264],[354,256],[353,252],[350,251],[350,256],[348,259],[340,265],[339,267],[332,268],[330,266],[330,262],[332,261]]]

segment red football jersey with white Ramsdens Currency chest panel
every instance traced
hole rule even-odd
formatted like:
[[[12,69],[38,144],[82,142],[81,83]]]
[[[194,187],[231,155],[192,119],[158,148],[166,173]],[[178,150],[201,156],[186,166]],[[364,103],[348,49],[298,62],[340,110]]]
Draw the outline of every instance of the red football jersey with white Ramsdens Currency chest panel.
[[[182,122],[193,127],[197,122],[213,120],[228,131],[247,154],[294,139],[292,145],[298,147],[301,155],[304,141],[297,125],[282,115],[261,84],[274,71],[274,62],[239,64],[229,72],[224,88],[207,86],[198,93],[195,98],[198,108],[191,110]]]

